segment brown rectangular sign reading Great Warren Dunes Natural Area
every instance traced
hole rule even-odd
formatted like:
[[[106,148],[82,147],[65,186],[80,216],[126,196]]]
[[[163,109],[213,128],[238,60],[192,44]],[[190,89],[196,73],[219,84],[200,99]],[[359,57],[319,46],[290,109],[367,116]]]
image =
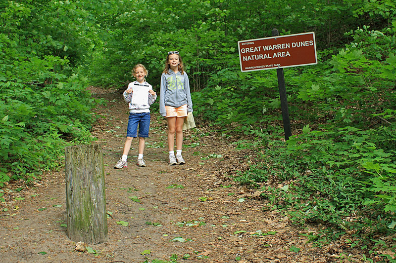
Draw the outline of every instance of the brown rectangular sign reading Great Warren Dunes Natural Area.
[[[315,33],[238,41],[241,71],[318,64]]]

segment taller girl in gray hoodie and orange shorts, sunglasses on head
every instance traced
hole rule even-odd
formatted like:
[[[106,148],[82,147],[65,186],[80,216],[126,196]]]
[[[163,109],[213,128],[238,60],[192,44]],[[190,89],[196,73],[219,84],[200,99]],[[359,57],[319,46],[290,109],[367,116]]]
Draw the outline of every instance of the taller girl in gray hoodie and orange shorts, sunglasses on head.
[[[182,157],[183,122],[188,112],[193,112],[190,82],[184,72],[183,61],[178,51],[166,56],[165,69],[161,75],[159,113],[168,122],[169,165],[185,164]],[[176,157],[174,153],[176,132]]]

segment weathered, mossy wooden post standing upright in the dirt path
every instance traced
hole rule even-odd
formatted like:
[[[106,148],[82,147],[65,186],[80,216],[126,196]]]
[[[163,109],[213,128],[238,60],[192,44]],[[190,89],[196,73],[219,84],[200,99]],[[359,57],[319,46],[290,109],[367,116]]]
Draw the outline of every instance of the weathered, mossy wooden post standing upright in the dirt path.
[[[108,237],[103,154],[99,145],[65,148],[67,236],[89,244]]]

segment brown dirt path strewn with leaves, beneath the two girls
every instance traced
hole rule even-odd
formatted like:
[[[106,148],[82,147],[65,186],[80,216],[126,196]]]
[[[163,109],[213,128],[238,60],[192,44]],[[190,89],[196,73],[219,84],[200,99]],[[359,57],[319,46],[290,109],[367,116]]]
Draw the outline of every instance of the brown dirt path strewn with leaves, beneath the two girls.
[[[142,263],[171,261],[173,254],[177,262],[339,262],[331,256],[337,253],[337,244],[330,249],[306,244],[301,234],[315,229],[299,229],[278,212],[263,210],[263,200],[250,199],[254,192],[226,177],[247,165],[248,152],[233,150],[228,141],[204,127],[185,132],[187,164],[169,166],[166,124],[152,113],[147,167],[134,163],[135,140],[129,166],[113,169],[123,150],[128,113],[119,93],[94,92],[109,101],[101,107],[103,118],[94,131],[104,154],[107,211],[112,213],[109,240],[91,245],[96,254],[75,250],[75,242],[67,238],[62,226],[64,172],[53,172],[20,192],[15,190],[17,183],[4,188],[1,262]],[[118,225],[120,221],[128,225]]]

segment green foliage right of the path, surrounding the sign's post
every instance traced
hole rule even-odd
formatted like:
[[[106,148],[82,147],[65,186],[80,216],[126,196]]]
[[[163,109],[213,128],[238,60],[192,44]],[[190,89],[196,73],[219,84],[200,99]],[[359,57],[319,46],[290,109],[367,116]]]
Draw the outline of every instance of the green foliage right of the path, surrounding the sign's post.
[[[357,28],[346,34],[353,41],[330,59],[285,70],[297,133],[286,145],[274,141],[280,130],[273,126],[282,123],[271,73],[225,69],[213,74],[204,94],[194,95],[196,111],[213,124],[252,136],[254,143],[242,141],[237,149],[262,152],[262,162],[239,172],[236,181],[283,185],[265,188],[263,197],[274,208],[296,223],[327,225],[330,238],[352,234],[370,254],[380,249],[372,237],[393,235],[396,225],[394,32]],[[246,82],[253,91],[244,88]],[[390,242],[383,246],[395,249]]]

